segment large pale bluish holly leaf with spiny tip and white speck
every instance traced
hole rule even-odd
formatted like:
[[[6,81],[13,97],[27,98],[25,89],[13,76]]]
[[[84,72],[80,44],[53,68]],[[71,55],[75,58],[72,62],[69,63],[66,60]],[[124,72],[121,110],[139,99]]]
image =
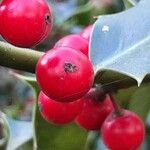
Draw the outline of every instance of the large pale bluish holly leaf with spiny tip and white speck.
[[[138,85],[150,73],[150,1],[114,15],[101,16],[94,25],[90,59],[99,76],[107,71],[127,75]]]

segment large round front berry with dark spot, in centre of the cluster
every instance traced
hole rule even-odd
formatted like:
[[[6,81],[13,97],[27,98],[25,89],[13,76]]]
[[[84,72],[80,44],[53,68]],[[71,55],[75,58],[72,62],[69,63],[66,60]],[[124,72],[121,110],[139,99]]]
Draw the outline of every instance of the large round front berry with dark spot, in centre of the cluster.
[[[80,51],[67,47],[48,51],[37,63],[37,81],[42,91],[60,102],[84,96],[94,80],[93,67]]]

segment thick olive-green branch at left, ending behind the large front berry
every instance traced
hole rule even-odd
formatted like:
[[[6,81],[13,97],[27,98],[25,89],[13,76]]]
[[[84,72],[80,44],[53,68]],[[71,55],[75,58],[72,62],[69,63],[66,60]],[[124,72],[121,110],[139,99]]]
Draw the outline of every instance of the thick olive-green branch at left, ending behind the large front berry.
[[[18,48],[0,41],[0,65],[34,73],[35,66],[43,52]]]

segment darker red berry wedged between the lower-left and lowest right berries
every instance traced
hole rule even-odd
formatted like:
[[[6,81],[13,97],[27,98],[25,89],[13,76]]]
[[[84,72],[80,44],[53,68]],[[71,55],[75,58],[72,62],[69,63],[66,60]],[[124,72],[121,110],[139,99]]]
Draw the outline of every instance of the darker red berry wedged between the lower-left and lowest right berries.
[[[95,99],[95,96],[93,88],[82,98],[84,106],[76,118],[76,123],[87,130],[99,130],[106,117],[113,111],[109,96],[99,101]]]

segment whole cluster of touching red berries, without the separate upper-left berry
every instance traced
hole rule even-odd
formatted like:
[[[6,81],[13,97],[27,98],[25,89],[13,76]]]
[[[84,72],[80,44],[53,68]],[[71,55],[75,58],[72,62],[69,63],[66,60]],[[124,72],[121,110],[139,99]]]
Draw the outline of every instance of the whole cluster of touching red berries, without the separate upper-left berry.
[[[37,63],[41,114],[50,123],[75,121],[86,130],[101,130],[111,150],[136,150],[145,134],[141,119],[131,111],[118,112],[109,95],[102,97],[99,87],[92,87],[94,75],[88,60],[91,29],[60,39]]]

